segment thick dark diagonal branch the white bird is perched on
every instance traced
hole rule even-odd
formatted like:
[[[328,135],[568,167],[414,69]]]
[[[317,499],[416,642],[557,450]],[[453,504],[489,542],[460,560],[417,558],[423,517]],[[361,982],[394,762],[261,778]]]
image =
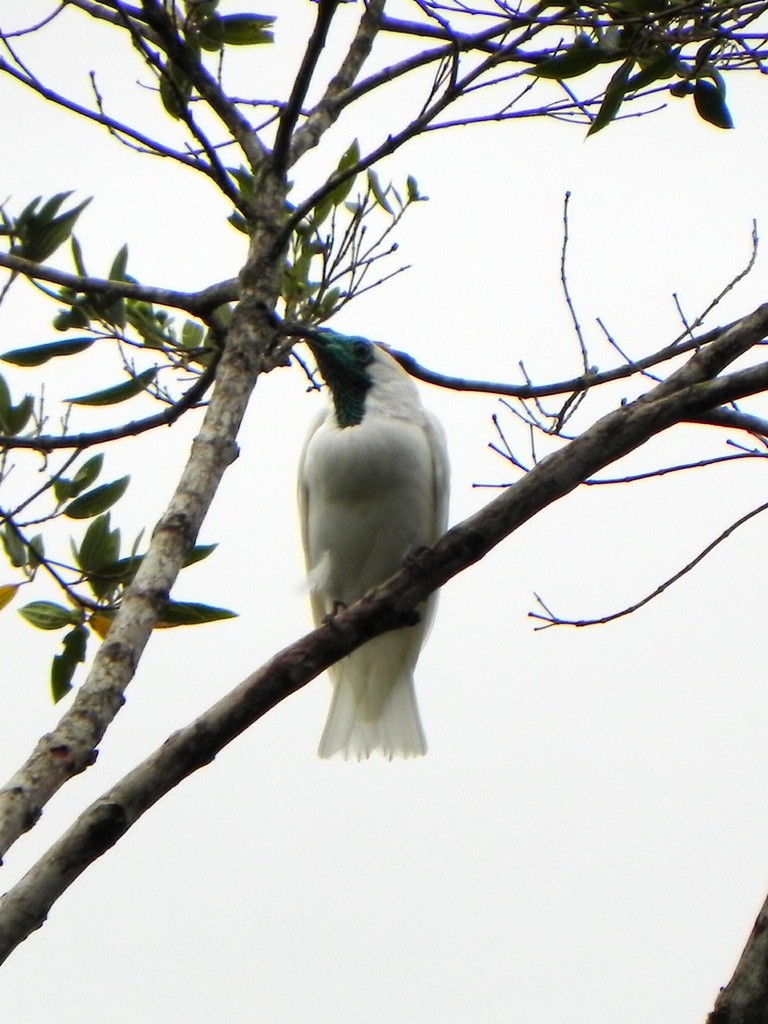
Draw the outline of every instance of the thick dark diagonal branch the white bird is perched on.
[[[743,317],[715,346],[722,362],[756,336],[768,331],[768,305]],[[693,356],[693,364],[698,356]],[[269,709],[313,679],[325,668],[366,640],[413,621],[415,609],[428,594],[452,577],[479,561],[501,541],[537,513],[573,490],[584,479],[628,455],[653,435],[712,404],[733,400],[768,386],[768,367],[753,368],[729,378],[702,382],[700,364],[679,387],[663,385],[603,417],[568,445],[539,463],[517,483],[484,509],[419,555],[391,580],[362,600],[341,610],[334,624],[326,624],[275,655],[245,680],[227,697],[190,725],[174,733],[142,765],[88,808],[61,839],[43,855],[20,882],[0,900],[0,959],[40,927],[58,896],[83,870],[110,849],[138,817],[165,793],[209,763],[218,751]],[[109,646],[108,642],[104,646]],[[50,745],[50,738],[47,740]],[[56,756],[65,758],[65,749]],[[83,752],[85,753],[85,752]],[[91,756],[93,752],[91,752]],[[85,764],[81,763],[81,767]],[[29,790],[30,783],[27,785]],[[0,848],[7,848],[13,825],[32,823],[36,805],[25,798],[19,777],[6,787],[16,821],[0,817]],[[0,795],[2,796],[2,795]],[[28,817],[23,811],[27,808]]]

